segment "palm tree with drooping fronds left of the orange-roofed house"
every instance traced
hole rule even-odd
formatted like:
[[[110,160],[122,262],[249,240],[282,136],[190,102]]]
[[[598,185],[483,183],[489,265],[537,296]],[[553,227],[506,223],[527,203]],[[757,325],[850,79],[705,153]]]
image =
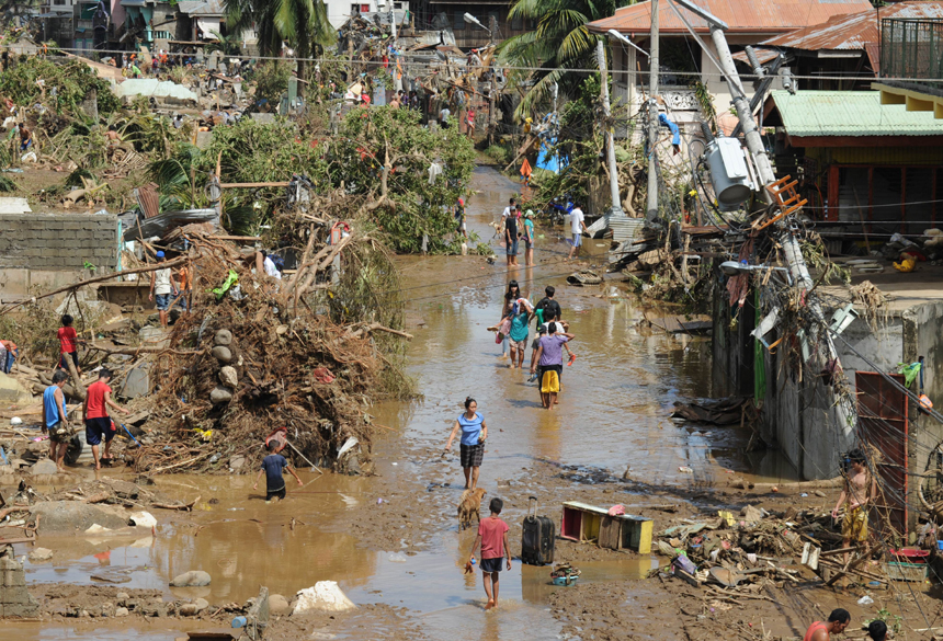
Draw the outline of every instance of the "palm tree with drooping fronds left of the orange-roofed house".
[[[498,48],[500,61],[510,67],[537,68],[516,73],[519,81],[530,81],[515,113],[521,119],[559,83],[564,94],[576,94],[582,78],[568,69],[591,69],[597,66],[593,50],[603,37],[587,28],[588,22],[609,18],[620,7],[636,0],[518,0],[508,20],[536,22],[537,28],[504,41]]]

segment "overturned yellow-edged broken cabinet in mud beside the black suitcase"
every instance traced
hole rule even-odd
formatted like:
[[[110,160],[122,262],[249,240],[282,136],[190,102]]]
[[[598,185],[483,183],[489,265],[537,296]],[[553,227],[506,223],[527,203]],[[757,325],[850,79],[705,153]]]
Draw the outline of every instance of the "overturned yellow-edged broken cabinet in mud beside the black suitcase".
[[[560,519],[560,536],[571,541],[597,541],[600,548],[621,550],[628,548],[639,554],[651,552],[650,518],[620,514],[586,503],[567,501]]]

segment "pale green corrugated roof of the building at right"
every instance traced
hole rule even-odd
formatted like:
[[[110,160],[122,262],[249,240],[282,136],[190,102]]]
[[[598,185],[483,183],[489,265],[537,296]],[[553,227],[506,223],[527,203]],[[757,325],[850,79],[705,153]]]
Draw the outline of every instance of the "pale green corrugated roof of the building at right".
[[[943,136],[933,112],[880,104],[879,91],[772,92],[789,136]]]

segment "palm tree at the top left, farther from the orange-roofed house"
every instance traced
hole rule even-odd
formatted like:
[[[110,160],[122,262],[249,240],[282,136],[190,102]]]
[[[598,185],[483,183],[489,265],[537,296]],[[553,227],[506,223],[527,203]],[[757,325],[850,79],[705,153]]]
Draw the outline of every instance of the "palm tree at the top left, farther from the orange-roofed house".
[[[318,47],[337,38],[323,0],[224,0],[223,4],[230,32],[255,26],[263,56],[281,56],[282,45],[287,43],[299,58],[310,58]],[[302,78],[303,69],[299,64]]]

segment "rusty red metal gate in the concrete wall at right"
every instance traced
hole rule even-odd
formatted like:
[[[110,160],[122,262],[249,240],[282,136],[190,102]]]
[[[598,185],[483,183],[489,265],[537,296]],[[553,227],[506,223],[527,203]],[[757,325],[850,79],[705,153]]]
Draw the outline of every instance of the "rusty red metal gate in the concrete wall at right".
[[[890,525],[905,535],[908,517],[908,402],[907,394],[887,378],[904,386],[904,376],[899,374],[855,373],[860,437],[864,445],[874,446],[883,455],[877,466],[883,487],[878,489],[875,504],[882,514],[889,516]],[[880,528],[877,523],[875,526]]]

